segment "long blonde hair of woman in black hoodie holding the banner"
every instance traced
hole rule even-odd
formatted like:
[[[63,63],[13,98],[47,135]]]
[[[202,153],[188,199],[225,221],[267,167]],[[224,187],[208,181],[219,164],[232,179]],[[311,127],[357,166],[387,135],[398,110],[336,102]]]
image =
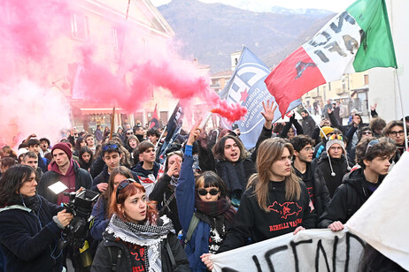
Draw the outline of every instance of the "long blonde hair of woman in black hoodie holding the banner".
[[[270,174],[272,172],[271,166],[278,161],[284,148],[289,149],[289,154],[294,154],[294,147],[288,140],[284,139],[268,139],[261,143],[256,160],[257,173],[253,174],[249,179],[247,187],[254,186],[254,194],[256,195],[259,207],[266,212],[270,210],[267,208],[268,200],[268,186],[270,184]],[[284,179],[285,182],[285,199],[299,200],[301,195],[301,187],[299,185],[299,178],[294,169],[291,167],[291,172],[288,177]]]

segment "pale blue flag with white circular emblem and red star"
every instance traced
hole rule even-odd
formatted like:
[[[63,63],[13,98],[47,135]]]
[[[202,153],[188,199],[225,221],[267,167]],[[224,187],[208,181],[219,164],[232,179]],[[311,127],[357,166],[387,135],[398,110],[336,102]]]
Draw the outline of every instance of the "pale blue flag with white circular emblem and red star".
[[[256,146],[259,134],[264,125],[264,117],[261,115],[263,110],[262,102],[269,100],[275,102],[274,97],[268,92],[264,80],[270,73],[270,69],[256,57],[250,49],[244,47],[235,72],[228,81],[228,85],[220,92],[220,98],[226,99],[228,103],[237,102],[247,109],[247,114],[243,120],[237,121],[244,147],[251,149]],[[301,102],[295,100],[289,104],[289,110],[296,108]],[[274,121],[281,117],[280,110],[274,112]],[[221,120],[221,125],[231,129],[231,125],[225,119]]]

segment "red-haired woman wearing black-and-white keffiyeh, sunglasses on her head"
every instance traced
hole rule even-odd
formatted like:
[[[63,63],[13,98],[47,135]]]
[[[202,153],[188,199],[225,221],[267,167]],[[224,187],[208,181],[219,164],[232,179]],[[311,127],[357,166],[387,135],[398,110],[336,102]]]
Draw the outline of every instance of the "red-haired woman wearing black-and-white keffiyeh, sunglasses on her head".
[[[112,193],[110,223],[91,271],[189,271],[172,221],[159,217],[143,185],[128,178]]]

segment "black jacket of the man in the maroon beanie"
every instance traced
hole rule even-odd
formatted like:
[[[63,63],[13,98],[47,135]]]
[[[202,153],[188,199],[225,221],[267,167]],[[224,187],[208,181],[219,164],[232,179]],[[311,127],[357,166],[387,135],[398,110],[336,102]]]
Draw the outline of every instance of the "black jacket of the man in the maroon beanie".
[[[76,162],[73,163],[73,172],[75,173],[75,191],[79,190],[81,187],[84,189],[90,189],[92,185],[92,178],[87,170],[83,170],[78,166]],[[46,200],[51,203],[57,204],[58,195],[52,193],[48,186],[55,184],[59,181],[59,174],[50,170],[40,179],[40,183],[37,186],[38,194],[42,195]]]

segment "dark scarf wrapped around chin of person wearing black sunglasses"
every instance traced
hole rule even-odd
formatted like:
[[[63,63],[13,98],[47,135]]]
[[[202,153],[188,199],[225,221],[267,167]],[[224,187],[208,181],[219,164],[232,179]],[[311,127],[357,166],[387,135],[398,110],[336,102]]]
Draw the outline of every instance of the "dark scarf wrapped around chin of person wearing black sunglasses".
[[[233,223],[233,218],[235,217],[235,208],[231,205],[228,197],[220,198],[220,200],[217,201],[202,201],[196,197],[195,202],[197,217],[205,223],[210,224],[220,235],[224,235],[223,225],[225,219],[228,220],[228,223]]]

